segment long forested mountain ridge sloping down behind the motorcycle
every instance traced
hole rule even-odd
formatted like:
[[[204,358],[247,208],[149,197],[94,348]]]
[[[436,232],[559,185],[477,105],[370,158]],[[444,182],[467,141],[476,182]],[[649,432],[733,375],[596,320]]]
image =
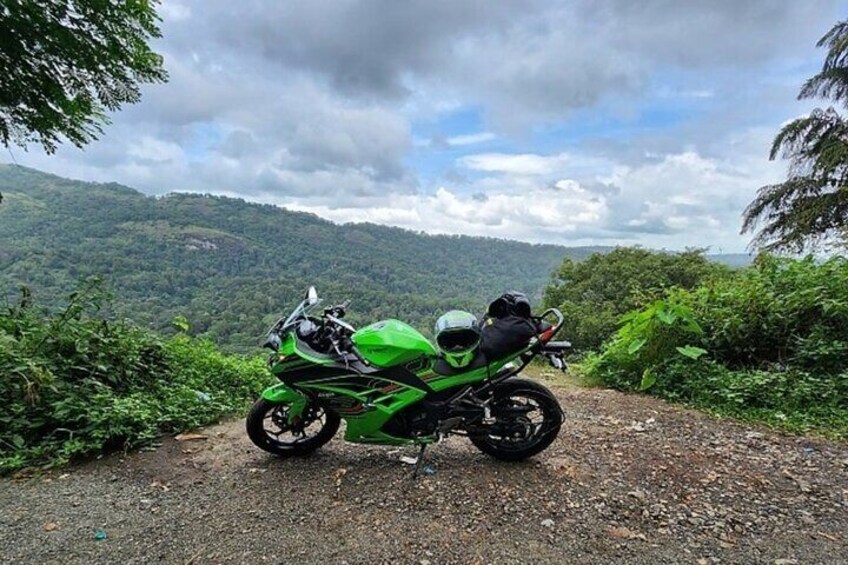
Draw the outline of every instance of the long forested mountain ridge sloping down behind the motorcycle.
[[[427,330],[450,308],[479,312],[498,293],[538,298],[565,248],[429,236],[372,224],[337,225],[270,205],[197,194],[153,198],[117,184],[0,165],[0,288],[21,285],[58,304],[81,278],[102,275],[121,316],[244,349],[312,284],[352,299],[351,320],[385,317]]]

